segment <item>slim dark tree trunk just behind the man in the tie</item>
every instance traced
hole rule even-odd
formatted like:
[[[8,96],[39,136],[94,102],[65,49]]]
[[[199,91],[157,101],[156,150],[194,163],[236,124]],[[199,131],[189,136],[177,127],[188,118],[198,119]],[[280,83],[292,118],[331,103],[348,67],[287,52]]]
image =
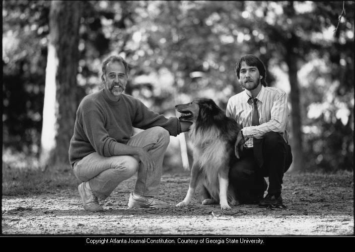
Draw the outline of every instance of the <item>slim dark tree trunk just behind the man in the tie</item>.
[[[299,172],[304,170],[304,154],[302,148],[302,120],[300,109],[300,90],[297,80],[297,58],[298,55],[294,49],[297,48],[297,37],[292,34],[291,39],[287,43],[286,62],[289,67],[289,80],[291,86],[291,121],[292,121],[292,154],[293,154],[293,171]]]

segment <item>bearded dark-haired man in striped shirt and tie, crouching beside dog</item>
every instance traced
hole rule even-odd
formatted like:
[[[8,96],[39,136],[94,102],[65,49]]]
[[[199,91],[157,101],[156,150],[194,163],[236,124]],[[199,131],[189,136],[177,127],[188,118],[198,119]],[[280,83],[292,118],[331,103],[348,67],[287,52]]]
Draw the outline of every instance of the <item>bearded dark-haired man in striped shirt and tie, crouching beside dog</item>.
[[[282,178],[292,163],[287,95],[266,87],[265,66],[255,55],[242,56],[235,71],[244,91],[229,99],[226,113],[242,125],[245,143],[230,170],[230,183],[241,203],[282,205]],[[264,177],[269,178],[265,198]]]

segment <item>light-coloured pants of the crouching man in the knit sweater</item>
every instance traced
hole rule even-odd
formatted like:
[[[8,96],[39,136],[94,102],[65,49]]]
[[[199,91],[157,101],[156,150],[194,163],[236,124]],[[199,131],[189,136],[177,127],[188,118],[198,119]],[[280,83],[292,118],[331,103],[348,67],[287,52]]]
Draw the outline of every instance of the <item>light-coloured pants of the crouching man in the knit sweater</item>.
[[[164,153],[169,140],[170,135],[167,130],[162,127],[152,127],[132,136],[126,143],[148,151],[155,164],[150,173],[133,156],[104,157],[93,152],[74,164],[74,174],[82,182],[89,181],[90,187],[97,197],[106,199],[122,181],[138,172],[134,193],[156,197],[160,185]]]

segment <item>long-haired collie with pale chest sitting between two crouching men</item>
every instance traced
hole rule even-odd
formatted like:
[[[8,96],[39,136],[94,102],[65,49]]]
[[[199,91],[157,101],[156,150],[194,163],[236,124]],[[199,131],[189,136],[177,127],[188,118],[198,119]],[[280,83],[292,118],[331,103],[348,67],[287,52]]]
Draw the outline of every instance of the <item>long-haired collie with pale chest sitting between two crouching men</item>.
[[[176,105],[175,109],[181,113],[181,121],[192,122],[189,136],[193,144],[189,189],[176,206],[189,205],[197,187],[203,190],[200,194],[203,205],[219,202],[222,210],[231,209],[228,202],[238,205],[228,174],[244,143],[242,127],[211,99],[194,99]]]

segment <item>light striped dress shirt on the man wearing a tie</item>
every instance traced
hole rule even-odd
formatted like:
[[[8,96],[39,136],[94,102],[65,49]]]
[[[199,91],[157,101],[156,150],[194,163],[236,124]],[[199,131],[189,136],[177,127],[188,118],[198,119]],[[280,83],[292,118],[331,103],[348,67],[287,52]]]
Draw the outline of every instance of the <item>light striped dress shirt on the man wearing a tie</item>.
[[[228,100],[226,115],[233,117],[243,127],[245,147],[253,147],[253,137],[262,138],[267,132],[279,132],[289,142],[290,120],[287,94],[278,88],[261,86],[257,98],[260,125],[251,126],[253,103],[243,91]]]

